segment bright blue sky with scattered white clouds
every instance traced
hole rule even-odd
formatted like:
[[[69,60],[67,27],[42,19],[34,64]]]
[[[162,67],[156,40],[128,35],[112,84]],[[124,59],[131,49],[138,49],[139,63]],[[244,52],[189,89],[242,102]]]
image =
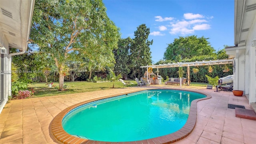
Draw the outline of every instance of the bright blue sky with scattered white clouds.
[[[141,24],[150,28],[152,63],[163,60],[168,44],[180,36],[209,38],[216,50],[234,46],[234,0],[103,0],[121,38],[134,38]]]

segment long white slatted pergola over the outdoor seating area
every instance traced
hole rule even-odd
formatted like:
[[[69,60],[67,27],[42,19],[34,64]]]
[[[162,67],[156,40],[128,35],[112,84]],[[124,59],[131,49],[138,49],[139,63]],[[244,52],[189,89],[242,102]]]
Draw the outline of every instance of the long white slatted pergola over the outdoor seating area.
[[[150,66],[140,66],[140,68],[176,68],[176,67],[187,67],[188,72],[188,85],[190,84],[190,66],[210,66],[210,65],[219,65],[219,64],[233,64],[234,58],[228,58],[223,60],[209,60],[209,61],[195,61],[195,62],[177,62],[177,63],[167,63],[167,64],[158,64],[158,65],[150,65]],[[148,74],[147,74],[148,76]]]

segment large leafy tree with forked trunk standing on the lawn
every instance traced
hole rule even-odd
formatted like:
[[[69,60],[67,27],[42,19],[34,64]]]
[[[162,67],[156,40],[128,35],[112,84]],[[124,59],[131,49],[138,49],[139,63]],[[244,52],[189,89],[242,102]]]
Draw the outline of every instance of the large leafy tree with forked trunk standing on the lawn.
[[[30,41],[50,54],[59,72],[59,90],[67,74],[70,52],[113,65],[118,28],[108,18],[102,0],[37,0]],[[72,55],[73,56],[73,55]]]

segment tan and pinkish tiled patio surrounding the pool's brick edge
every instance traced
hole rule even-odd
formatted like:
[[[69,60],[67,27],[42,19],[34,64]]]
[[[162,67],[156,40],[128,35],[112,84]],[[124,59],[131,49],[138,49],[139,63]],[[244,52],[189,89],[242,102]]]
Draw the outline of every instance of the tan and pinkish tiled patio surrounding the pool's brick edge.
[[[154,85],[10,100],[0,114],[0,144],[56,144],[49,134],[49,125],[65,108],[94,98],[158,86],[180,89],[180,86]],[[216,89],[206,87],[182,86],[181,89],[193,89],[212,98],[197,103],[196,127],[175,144],[256,144],[256,121],[237,118],[235,109],[228,108],[228,104],[236,104],[251,109],[246,96],[214,92]]]

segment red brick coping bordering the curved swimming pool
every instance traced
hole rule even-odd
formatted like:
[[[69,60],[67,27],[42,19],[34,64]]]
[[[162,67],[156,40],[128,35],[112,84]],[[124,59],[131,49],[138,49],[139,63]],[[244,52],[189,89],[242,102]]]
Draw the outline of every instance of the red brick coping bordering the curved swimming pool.
[[[177,89],[173,89],[173,88],[153,88],[153,89],[177,90]],[[148,89],[148,90],[152,90],[152,89]],[[143,91],[143,90],[135,90],[135,91],[128,92],[128,93],[139,92],[139,91]],[[198,92],[197,90],[184,90],[184,91],[197,92],[200,94],[204,94],[202,92]],[[124,94],[128,94],[128,93],[124,93]],[[56,139],[56,141],[61,142],[63,144],[118,144],[118,143],[120,143],[120,142],[101,142],[101,141],[94,141],[94,140],[78,138],[78,137],[68,134],[62,128],[62,120],[63,120],[64,116],[73,108],[76,108],[76,107],[78,107],[82,104],[86,104],[88,102],[93,102],[96,100],[110,98],[110,97],[119,96],[119,95],[120,94],[116,94],[116,95],[105,96],[102,98],[87,100],[87,101],[80,102],[78,104],[75,104],[73,106],[70,106],[70,107],[62,110],[62,112],[60,112],[57,116],[55,116],[53,118],[52,122],[50,123],[50,126],[49,126],[50,134],[52,134],[52,137],[54,139]],[[182,140],[183,138],[186,138],[194,130],[194,127],[196,125],[196,115],[197,115],[196,103],[200,100],[205,100],[205,99],[212,97],[209,94],[204,94],[204,95],[206,95],[206,98],[196,99],[191,102],[188,120],[187,120],[186,124],[177,132],[174,132],[172,134],[168,134],[165,136],[160,136],[157,138],[147,139],[147,140],[139,140],[139,141],[133,141],[133,142],[122,142],[122,144],[138,144],[138,143],[140,143],[140,144],[154,144],[154,143],[155,144],[170,144],[170,143],[176,142],[178,140]]]

